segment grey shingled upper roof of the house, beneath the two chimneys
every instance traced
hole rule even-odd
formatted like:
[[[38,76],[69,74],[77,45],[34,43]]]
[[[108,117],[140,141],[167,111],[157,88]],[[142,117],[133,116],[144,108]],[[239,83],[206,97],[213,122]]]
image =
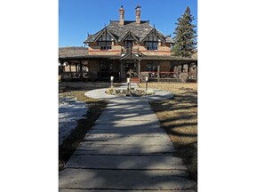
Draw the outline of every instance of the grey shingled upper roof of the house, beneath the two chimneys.
[[[109,34],[115,36],[117,42],[122,42],[125,36],[128,36],[127,34],[129,33],[129,31],[131,31],[134,38],[136,37],[139,42],[142,42],[142,40],[144,40],[148,36],[148,34],[154,30],[156,31],[157,36],[159,36],[160,39],[163,39],[164,42],[174,43],[170,36],[164,36],[164,34],[156,30],[156,28],[154,29],[154,27],[149,24],[148,20],[141,20],[140,24],[136,23],[135,20],[126,20],[124,21],[124,25],[119,25],[118,20],[110,20],[110,23],[106,28]],[[97,38],[100,36],[100,33],[102,33],[103,29],[101,29],[92,36],[88,36],[84,43],[91,43],[97,41]]]

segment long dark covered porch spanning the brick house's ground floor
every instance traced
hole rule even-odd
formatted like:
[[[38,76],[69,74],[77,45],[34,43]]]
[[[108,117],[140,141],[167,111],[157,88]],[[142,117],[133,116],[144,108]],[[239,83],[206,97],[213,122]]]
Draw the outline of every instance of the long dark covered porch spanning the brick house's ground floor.
[[[128,52],[118,55],[59,57],[61,81],[196,82],[197,59],[175,56],[146,56]]]

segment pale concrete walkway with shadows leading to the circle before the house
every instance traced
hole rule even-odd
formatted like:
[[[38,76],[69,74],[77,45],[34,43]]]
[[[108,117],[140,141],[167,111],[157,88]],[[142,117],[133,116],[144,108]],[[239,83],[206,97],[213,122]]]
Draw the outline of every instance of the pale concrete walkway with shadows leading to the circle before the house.
[[[192,192],[196,183],[173,156],[172,141],[148,104],[173,95],[159,91],[151,98],[114,97],[105,91],[85,93],[110,103],[60,172],[60,192]]]

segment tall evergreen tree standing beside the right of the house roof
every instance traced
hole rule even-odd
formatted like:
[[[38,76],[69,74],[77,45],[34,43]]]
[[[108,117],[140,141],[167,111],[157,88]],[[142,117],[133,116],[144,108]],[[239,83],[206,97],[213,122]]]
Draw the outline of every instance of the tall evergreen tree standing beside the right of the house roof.
[[[191,15],[190,8],[187,7],[185,13],[175,23],[174,44],[172,51],[175,56],[190,58],[196,49],[196,26],[192,24],[195,18]]]

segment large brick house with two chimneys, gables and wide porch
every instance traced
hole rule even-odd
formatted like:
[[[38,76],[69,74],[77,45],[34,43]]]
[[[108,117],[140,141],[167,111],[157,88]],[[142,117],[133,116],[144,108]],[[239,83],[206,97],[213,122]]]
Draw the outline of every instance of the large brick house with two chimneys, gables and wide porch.
[[[124,20],[124,8],[119,9],[119,20],[110,20],[84,40],[85,47],[59,49],[62,80],[109,79],[125,80],[132,75],[133,81],[166,81],[196,79],[196,58],[172,56],[171,36],[165,36],[149,20],[140,20],[140,6],[135,8],[136,20]],[[184,75],[183,75],[184,76]]]

